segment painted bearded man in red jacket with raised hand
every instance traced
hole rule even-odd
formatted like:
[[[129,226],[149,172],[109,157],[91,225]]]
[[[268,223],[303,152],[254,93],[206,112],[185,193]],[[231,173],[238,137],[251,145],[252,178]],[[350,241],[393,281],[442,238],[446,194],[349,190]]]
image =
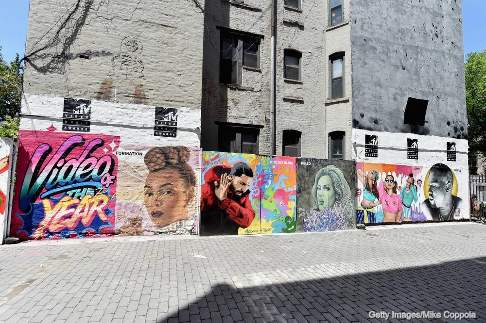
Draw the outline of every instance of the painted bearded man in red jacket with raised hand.
[[[201,234],[238,234],[255,219],[249,187],[253,171],[244,162],[217,165],[204,175],[201,187]]]

